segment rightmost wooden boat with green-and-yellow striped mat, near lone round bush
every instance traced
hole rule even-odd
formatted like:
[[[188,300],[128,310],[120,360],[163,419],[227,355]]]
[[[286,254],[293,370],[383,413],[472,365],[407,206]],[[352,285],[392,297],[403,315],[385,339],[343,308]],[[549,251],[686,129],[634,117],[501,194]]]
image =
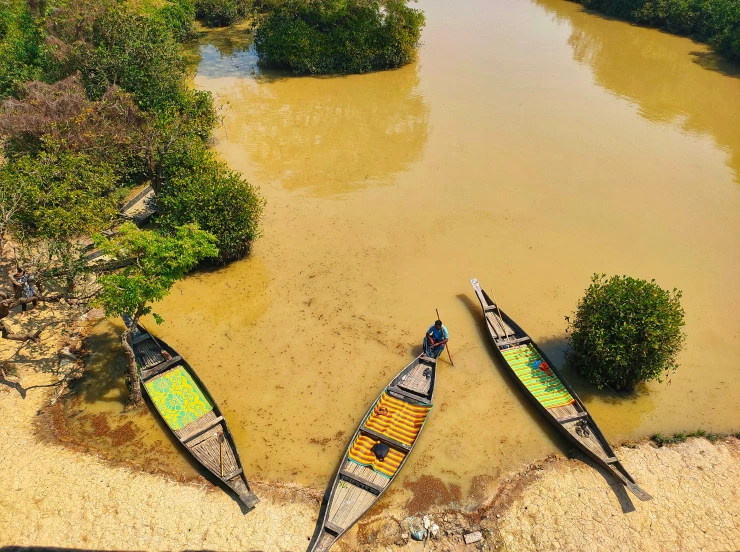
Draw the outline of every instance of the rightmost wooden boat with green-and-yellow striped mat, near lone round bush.
[[[586,407],[557,367],[522,328],[499,309],[475,278],[473,285],[496,352],[514,381],[565,437],[611,473],[640,500],[643,491],[614,455]]]

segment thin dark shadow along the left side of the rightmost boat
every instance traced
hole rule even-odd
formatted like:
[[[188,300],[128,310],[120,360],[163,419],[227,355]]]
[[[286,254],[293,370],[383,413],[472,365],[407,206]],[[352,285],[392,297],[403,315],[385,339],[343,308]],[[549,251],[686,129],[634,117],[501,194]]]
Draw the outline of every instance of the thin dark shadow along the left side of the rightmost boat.
[[[491,358],[491,363],[495,366],[502,379],[506,382],[512,395],[514,395],[518,399],[519,404],[532,417],[540,430],[542,430],[543,433],[550,437],[552,442],[560,450],[563,456],[570,459],[578,460],[590,466],[604,478],[606,483],[609,485],[609,488],[612,489],[614,495],[619,501],[619,505],[622,508],[622,513],[626,514],[629,512],[633,512],[635,510],[635,506],[632,502],[632,499],[627,494],[627,490],[624,488],[624,486],[612,475],[610,475],[604,468],[591,460],[591,458],[587,457],[577,448],[573,447],[571,443],[551,423],[548,423],[546,420],[544,420],[540,411],[537,410],[537,408],[532,404],[531,400],[524,394],[524,392],[519,388],[516,382],[512,380],[511,374],[504,366],[501,365],[501,361],[497,357],[495,347],[491,342],[490,336],[488,335],[486,321],[483,317],[483,313],[481,312],[480,304],[465,294],[459,294],[457,298],[465,305],[465,307],[467,307],[467,309],[471,313],[471,316],[475,318],[477,322],[476,328],[478,330],[478,337],[484,344],[485,349],[488,351]],[[539,345],[539,347],[545,352],[550,360],[553,360],[557,365],[563,365],[565,352],[567,350],[567,339],[565,338],[565,336],[561,338],[544,339],[542,341],[538,340],[537,345]],[[568,382],[572,383],[570,378],[568,378]],[[574,389],[576,390],[576,393],[581,396],[581,388],[583,387],[583,382],[579,381],[578,383],[579,385],[574,385]]]

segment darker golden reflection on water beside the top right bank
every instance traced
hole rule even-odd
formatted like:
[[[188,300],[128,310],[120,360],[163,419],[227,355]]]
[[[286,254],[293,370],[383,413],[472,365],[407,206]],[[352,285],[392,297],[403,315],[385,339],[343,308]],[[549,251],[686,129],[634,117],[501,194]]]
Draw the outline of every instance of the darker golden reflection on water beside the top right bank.
[[[603,19],[569,2],[534,1],[572,26],[573,57],[591,68],[599,86],[635,102],[650,121],[711,136],[740,183],[740,67],[686,39]]]

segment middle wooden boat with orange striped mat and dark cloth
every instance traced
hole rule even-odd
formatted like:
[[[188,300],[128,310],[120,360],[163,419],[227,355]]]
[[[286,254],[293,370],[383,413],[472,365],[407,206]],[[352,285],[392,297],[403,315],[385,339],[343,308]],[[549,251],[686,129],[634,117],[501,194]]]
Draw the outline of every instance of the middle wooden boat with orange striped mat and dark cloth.
[[[432,408],[437,360],[420,355],[393,378],[352,436],[329,487],[308,552],[326,552],[367,512],[401,471]],[[390,449],[380,462],[371,448]]]

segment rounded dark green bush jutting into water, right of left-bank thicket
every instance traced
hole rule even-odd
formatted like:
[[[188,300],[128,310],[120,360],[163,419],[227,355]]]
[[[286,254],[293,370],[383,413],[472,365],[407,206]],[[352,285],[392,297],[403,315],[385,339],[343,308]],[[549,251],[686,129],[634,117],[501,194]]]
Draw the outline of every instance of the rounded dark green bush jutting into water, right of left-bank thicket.
[[[157,203],[165,228],[196,223],[217,238],[219,262],[240,259],[259,236],[264,200],[241,175],[203,147],[170,157]]]

